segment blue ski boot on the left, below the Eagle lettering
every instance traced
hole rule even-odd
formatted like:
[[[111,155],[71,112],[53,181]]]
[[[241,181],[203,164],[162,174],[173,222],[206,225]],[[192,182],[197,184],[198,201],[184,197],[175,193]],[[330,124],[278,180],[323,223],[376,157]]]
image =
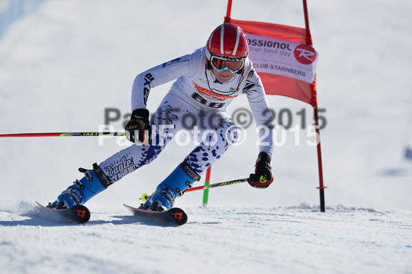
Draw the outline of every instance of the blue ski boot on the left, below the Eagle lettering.
[[[67,187],[54,201],[49,203],[47,207],[53,209],[65,209],[74,205],[83,205],[90,200],[91,197],[105,190],[111,185],[109,179],[97,163],[93,164],[93,170],[78,169],[85,176],[80,181],[74,181],[74,185]]]

